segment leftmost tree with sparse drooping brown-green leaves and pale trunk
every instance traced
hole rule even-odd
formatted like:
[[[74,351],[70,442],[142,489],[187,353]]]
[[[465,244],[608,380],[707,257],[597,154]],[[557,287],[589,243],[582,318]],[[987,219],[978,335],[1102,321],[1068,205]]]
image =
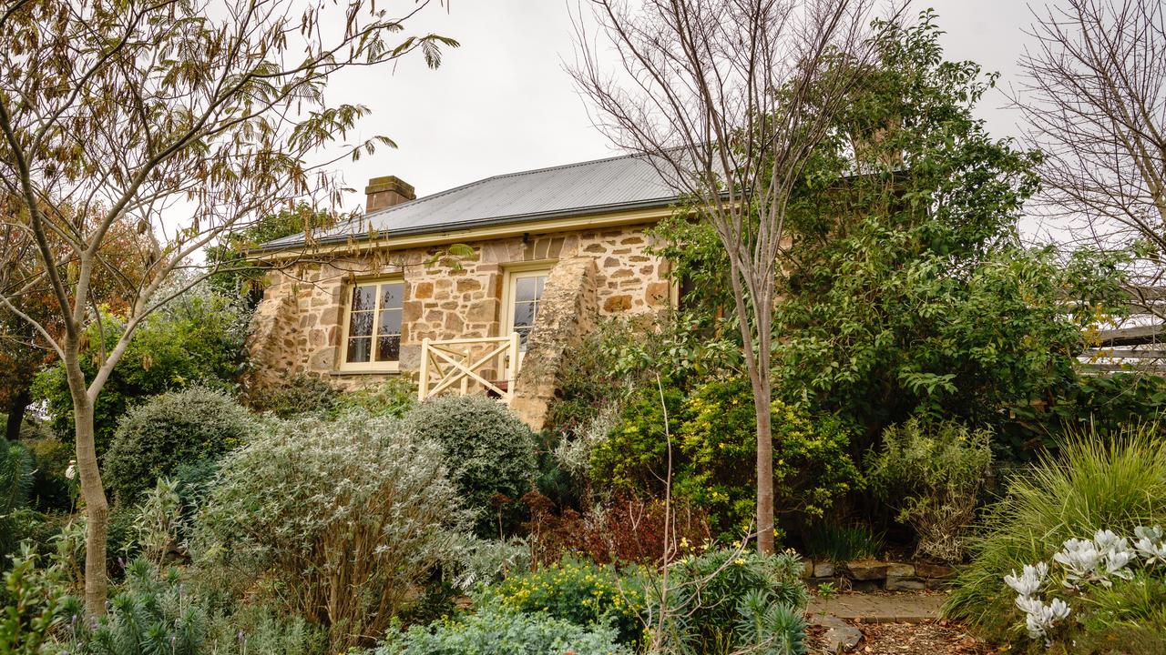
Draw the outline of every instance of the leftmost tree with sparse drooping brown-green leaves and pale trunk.
[[[211,273],[191,255],[298,199],[336,206],[323,149],[357,156],[385,138],[343,143],[367,113],[330,106],[337,72],[414,51],[436,65],[436,35],[398,36],[428,5],[391,15],[351,0],[6,0],[0,7],[0,184],[19,205],[0,233],[35,245],[36,267],[0,270],[0,308],[28,321],[63,362],[72,395],[87,531],[85,603],[104,612],[108,503],[93,407],[150,312]],[[392,40],[392,41],[391,41]],[[145,247],[111,260],[103,245],[128,221]],[[7,247],[7,246],[5,246]],[[0,262],[16,253],[0,253]],[[19,255],[23,256],[23,255]],[[125,275],[129,307],[106,348],[94,274]],[[177,275],[182,274],[182,275]],[[17,277],[19,276],[19,277]],[[176,283],[175,279],[184,282]],[[50,329],[19,298],[48,288]],[[80,357],[101,338],[97,373]],[[98,348],[94,348],[98,350]]]

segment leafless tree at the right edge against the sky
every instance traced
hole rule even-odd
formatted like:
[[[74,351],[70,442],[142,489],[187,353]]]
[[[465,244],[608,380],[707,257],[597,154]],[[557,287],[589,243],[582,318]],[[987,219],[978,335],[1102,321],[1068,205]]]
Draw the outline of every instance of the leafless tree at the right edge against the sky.
[[[1044,150],[1044,198],[1102,247],[1136,246],[1137,304],[1166,270],[1166,5],[1069,0],[1035,15],[1020,65],[1027,135]]]

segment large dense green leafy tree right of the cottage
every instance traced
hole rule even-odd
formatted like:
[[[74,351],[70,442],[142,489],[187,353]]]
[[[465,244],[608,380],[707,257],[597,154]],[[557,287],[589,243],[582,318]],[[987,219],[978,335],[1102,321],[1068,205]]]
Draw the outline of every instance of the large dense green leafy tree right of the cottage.
[[[998,422],[1072,379],[1082,328],[1117,311],[1115,258],[1020,246],[1039,155],[974,118],[996,77],[943,59],[934,17],[881,42],[808,169],[778,308],[787,394],[871,437],[913,414]]]

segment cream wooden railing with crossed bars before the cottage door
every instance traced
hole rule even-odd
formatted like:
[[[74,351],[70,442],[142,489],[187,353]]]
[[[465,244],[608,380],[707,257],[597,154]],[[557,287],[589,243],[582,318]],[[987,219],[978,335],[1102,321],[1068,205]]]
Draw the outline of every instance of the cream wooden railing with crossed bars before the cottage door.
[[[454,389],[459,395],[471,392],[497,394],[510,404],[514,397],[518,364],[518,332],[480,339],[426,338],[421,341],[417,399],[426,401]]]

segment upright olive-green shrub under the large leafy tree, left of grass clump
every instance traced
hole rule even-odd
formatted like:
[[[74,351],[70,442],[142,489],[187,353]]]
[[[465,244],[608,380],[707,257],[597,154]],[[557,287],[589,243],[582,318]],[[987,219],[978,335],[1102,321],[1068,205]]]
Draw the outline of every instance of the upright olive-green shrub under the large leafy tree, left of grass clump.
[[[866,453],[866,480],[914,528],[918,556],[960,563],[991,463],[991,431],[912,418],[884,430]]]

